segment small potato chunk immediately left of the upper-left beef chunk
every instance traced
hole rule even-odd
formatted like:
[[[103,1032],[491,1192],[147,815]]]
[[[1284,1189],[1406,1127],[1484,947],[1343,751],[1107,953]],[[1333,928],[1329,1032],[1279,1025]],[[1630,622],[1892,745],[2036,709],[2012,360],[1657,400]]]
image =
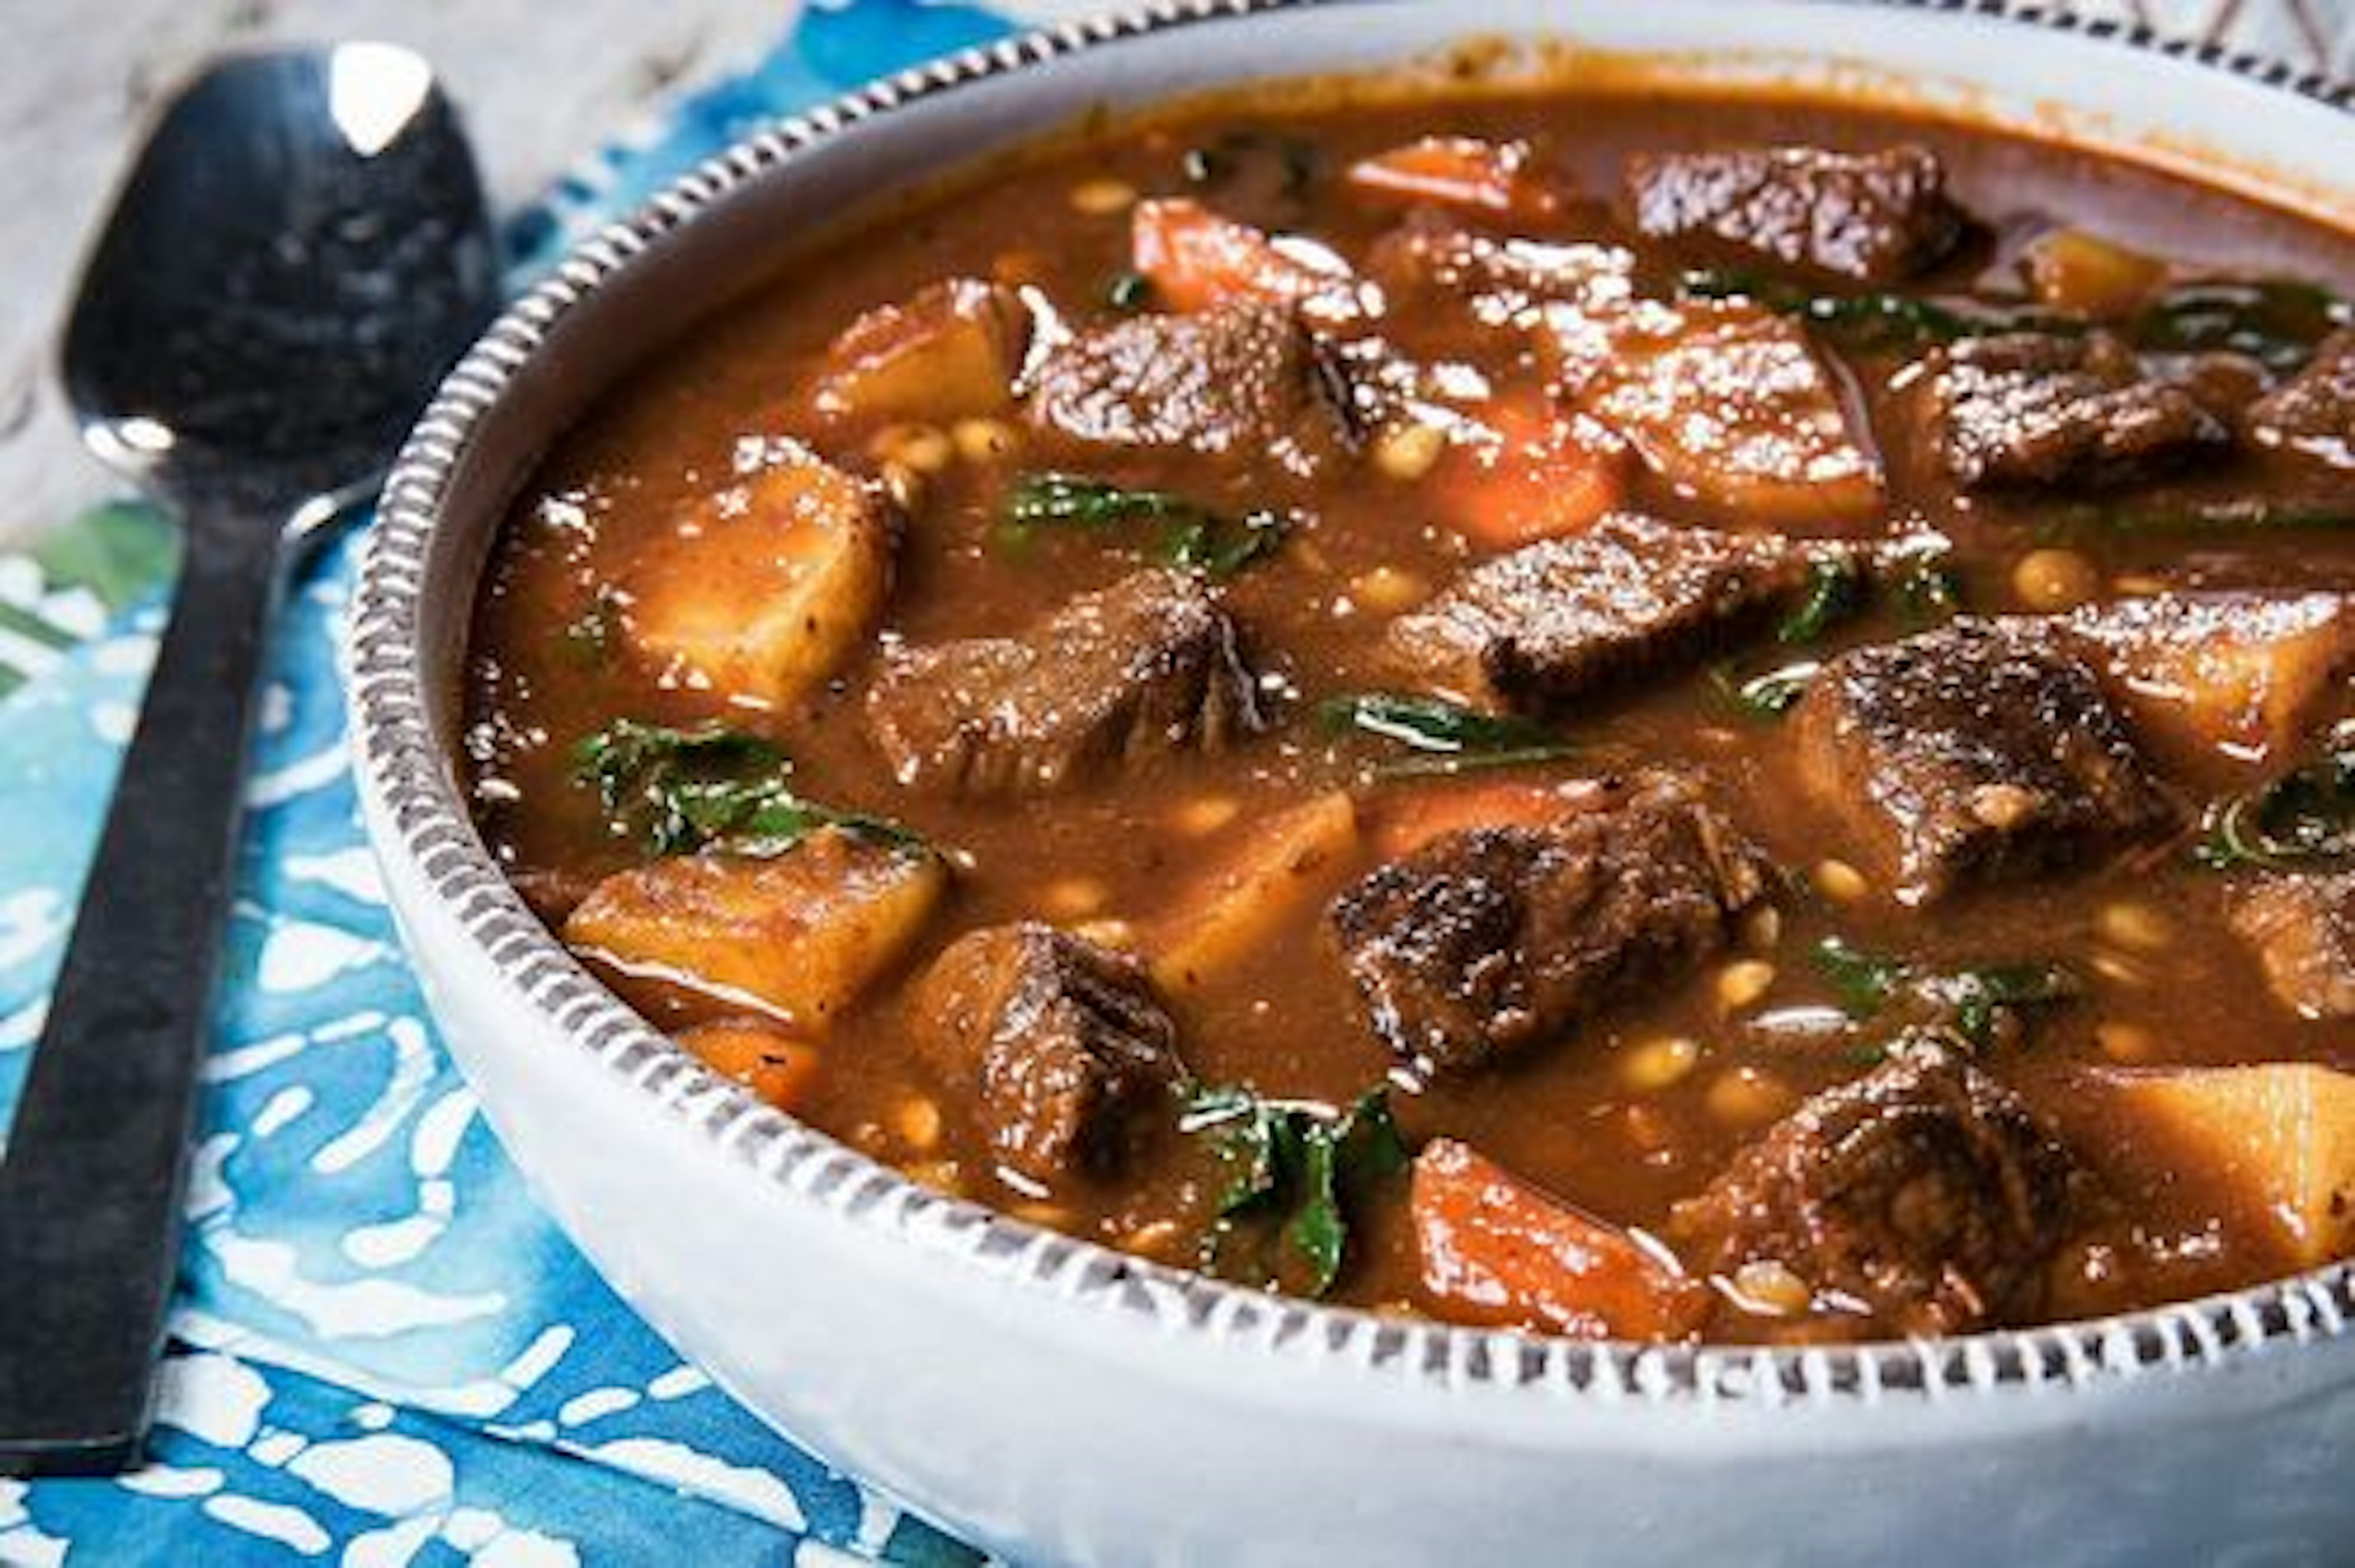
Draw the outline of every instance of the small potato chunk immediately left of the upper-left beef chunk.
[[[829,419],[947,424],[1013,400],[1029,311],[999,285],[947,278],[860,315],[834,339],[812,405]]]

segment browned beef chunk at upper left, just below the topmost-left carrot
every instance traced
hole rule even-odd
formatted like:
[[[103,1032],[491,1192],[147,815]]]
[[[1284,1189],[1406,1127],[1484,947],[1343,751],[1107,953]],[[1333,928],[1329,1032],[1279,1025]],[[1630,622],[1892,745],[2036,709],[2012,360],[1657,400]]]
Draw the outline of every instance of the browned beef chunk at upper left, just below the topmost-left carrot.
[[[1046,356],[1029,414],[1090,445],[1267,454],[1314,473],[1347,440],[1345,405],[1291,306],[1232,304],[1081,332]]]

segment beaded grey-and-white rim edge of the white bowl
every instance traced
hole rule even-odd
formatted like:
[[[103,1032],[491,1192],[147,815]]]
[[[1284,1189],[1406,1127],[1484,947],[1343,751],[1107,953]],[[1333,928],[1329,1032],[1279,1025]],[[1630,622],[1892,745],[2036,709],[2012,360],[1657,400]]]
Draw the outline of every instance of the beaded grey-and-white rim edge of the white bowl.
[[[909,1245],[928,1245],[944,1267],[968,1269],[975,1283],[1121,1314],[1147,1333],[1182,1328],[1258,1340],[1267,1349],[1307,1347],[1312,1354],[1321,1347],[1321,1354],[1368,1373],[1448,1391],[1543,1387],[1557,1396],[1691,1406],[1938,1401],[1971,1391],[2091,1387],[2150,1370],[2223,1368],[2282,1342],[2346,1337],[2355,1326],[2355,1264],[2348,1262],[2108,1318],[1816,1347],[1585,1342],[1276,1297],[933,1191],[850,1149],[671,1043],[598,984],[523,904],[483,848],[452,784],[450,760],[433,739],[417,633],[426,563],[459,459],[551,327],[664,235],[860,120],[1100,45],[1331,2],[1161,0],[914,66],[709,158],[631,217],[575,245],[516,299],[450,372],[405,443],[363,553],[346,629],[353,756],[433,897],[542,1019],[601,1069],[725,1147],[747,1175],[775,1182],[794,1201],[822,1205],[845,1224],[881,1227]],[[2195,61],[2331,108],[2355,108],[2355,82],[2216,42],[2167,38],[2138,24],[2014,0],[1896,5],[2079,33]],[[1145,1342],[1140,1333],[1137,1344]]]

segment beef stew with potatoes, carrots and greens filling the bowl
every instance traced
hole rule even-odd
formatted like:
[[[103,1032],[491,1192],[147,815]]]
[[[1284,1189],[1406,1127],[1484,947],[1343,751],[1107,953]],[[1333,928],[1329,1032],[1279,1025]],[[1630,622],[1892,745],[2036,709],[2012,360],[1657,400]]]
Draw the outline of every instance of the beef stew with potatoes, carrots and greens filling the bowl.
[[[921,1182],[1248,1285],[1962,1333],[2355,1248],[2355,235],[1797,99],[1199,108],[549,454],[466,765]]]

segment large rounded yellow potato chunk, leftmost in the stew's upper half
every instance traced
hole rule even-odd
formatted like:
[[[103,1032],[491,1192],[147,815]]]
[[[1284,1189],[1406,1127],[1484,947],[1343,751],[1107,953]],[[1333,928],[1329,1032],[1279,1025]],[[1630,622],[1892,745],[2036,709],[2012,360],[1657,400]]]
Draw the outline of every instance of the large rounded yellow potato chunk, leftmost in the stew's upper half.
[[[878,490],[777,443],[765,469],[685,509],[631,567],[631,645],[690,685],[787,704],[874,629],[895,544]]]

